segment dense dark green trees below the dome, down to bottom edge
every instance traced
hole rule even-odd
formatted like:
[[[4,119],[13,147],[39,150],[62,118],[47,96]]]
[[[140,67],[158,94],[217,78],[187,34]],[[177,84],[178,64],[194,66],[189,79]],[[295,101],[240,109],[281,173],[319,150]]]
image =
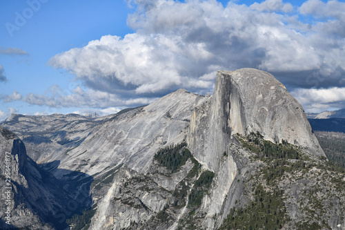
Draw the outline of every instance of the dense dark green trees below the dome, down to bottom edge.
[[[304,157],[296,146],[285,140],[282,144],[274,144],[264,140],[259,133],[250,133],[246,137],[237,135],[237,140],[255,153],[255,160],[268,164],[262,167],[261,173],[256,173],[256,177],[262,178],[266,184],[255,184],[251,191],[252,200],[245,207],[230,209],[219,229],[282,229],[288,222],[283,191],[270,182],[282,178],[286,171],[305,166],[303,160],[297,160]]]

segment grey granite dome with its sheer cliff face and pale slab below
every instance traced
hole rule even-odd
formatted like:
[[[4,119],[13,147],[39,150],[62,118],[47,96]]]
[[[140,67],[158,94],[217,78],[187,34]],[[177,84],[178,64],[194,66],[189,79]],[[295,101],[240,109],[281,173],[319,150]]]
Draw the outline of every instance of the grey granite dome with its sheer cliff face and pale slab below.
[[[226,163],[222,159],[224,153],[233,152],[232,135],[252,132],[271,142],[287,140],[308,148],[313,156],[324,156],[302,106],[273,75],[252,68],[219,71],[212,97],[193,111],[187,139],[195,158],[219,172],[215,180],[220,183],[208,205],[210,213],[221,213],[240,164],[232,154]],[[208,222],[215,224],[211,219]]]

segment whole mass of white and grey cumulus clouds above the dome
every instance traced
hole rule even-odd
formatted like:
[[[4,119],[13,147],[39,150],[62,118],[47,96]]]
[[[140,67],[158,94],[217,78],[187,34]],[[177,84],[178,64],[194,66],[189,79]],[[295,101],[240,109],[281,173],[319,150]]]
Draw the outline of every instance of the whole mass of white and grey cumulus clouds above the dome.
[[[211,93],[215,71],[243,67],[267,70],[289,90],[345,86],[344,3],[309,0],[300,8],[282,0],[251,6],[230,1],[225,8],[215,0],[129,4],[136,7],[127,21],[135,33],[106,35],[49,61],[89,90],[31,94],[24,101],[52,107],[78,100],[101,108],[146,104],[177,88]],[[327,20],[304,23],[300,14]],[[99,99],[91,97],[97,94]]]

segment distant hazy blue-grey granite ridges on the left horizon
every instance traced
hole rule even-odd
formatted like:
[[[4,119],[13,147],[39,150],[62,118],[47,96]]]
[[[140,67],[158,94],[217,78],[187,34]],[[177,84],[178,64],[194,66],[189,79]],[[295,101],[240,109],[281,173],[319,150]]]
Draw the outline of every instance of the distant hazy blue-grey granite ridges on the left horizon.
[[[46,116],[13,114],[6,119],[6,122],[3,122],[3,126],[10,128],[11,131],[19,135],[26,144],[28,156],[41,164],[51,160],[59,160],[58,155],[80,144],[88,136],[91,128],[109,118],[97,119],[77,114]]]

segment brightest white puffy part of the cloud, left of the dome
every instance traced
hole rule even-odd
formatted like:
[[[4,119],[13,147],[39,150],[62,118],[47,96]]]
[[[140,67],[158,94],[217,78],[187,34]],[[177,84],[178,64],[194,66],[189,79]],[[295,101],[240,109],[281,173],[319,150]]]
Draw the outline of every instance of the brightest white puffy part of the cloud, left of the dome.
[[[202,44],[184,47],[177,44],[183,44],[181,37],[132,34],[120,39],[108,35],[90,41],[83,48],[52,57],[50,64],[70,70],[80,79],[88,81],[88,86],[96,88],[101,84],[101,88],[110,93],[113,90],[111,86],[117,88],[121,84],[125,88],[135,86],[137,94],[157,93],[172,86],[184,86],[182,77],[185,76],[182,73],[186,64],[193,65],[188,58],[197,61],[209,58],[210,54],[202,48]]]

